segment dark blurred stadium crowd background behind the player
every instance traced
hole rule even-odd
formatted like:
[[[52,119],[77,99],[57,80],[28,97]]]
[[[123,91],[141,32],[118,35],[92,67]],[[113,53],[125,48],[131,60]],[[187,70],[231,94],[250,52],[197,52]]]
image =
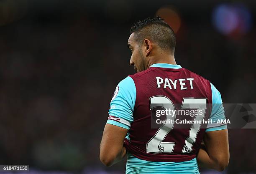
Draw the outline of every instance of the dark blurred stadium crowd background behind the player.
[[[137,20],[159,15],[178,64],[209,79],[223,103],[256,103],[256,1],[1,0],[0,164],[35,174],[122,174],[99,145],[115,86],[129,74]],[[230,129],[225,174],[256,173],[256,129]],[[202,174],[214,171],[202,169]]]

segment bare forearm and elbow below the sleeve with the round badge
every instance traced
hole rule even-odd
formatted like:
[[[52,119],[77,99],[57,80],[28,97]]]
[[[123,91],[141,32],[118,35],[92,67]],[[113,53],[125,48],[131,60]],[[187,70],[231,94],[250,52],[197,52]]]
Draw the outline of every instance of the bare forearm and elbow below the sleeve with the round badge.
[[[112,166],[126,155],[123,141],[128,129],[106,124],[100,143],[100,161],[105,166]]]

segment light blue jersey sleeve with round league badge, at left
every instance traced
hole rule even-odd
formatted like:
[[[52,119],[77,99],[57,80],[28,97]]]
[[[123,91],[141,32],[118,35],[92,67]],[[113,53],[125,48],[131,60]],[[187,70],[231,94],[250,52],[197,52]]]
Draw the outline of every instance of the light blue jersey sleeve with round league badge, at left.
[[[130,129],[133,122],[133,110],[136,101],[136,87],[131,77],[126,77],[115,88],[110,102],[107,124]]]

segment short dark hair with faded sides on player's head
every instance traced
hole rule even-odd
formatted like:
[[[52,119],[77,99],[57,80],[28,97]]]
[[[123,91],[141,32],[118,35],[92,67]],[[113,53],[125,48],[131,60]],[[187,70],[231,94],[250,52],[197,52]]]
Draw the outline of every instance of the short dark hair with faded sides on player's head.
[[[176,38],[172,28],[164,22],[159,16],[155,18],[146,18],[134,23],[131,27],[130,34],[135,34],[138,43],[144,39],[151,39],[164,50],[171,50],[174,53]]]

